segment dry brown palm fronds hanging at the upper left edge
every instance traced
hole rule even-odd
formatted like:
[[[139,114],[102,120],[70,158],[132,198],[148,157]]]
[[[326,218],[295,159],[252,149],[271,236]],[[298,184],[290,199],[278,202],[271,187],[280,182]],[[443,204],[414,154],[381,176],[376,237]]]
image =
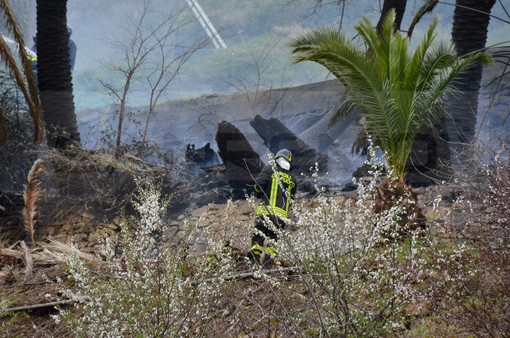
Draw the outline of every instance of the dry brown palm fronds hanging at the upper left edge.
[[[40,143],[43,138],[43,122],[42,122],[42,109],[37,92],[34,74],[29,61],[27,51],[25,49],[25,42],[23,41],[23,34],[20,27],[16,22],[12,8],[7,0],[0,0],[0,9],[3,11],[7,28],[12,32],[14,41],[18,45],[18,53],[21,59],[22,69],[19,68],[16,58],[14,57],[11,49],[9,48],[5,39],[0,35],[0,59],[6,64],[9,71],[13,74],[16,82],[25,97],[32,120],[34,123],[34,142]],[[0,107],[0,136],[3,141],[6,141],[5,116]]]

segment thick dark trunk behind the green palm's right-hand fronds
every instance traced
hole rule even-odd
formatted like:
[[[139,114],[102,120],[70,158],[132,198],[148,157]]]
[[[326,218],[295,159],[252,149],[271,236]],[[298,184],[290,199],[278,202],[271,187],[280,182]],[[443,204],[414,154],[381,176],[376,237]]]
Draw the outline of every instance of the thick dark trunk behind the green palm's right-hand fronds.
[[[453,15],[452,40],[459,55],[485,48],[490,12],[496,0],[457,0]],[[455,81],[460,95],[446,101],[448,137],[454,156],[461,155],[473,141],[478,110],[478,92],[482,65],[475,64],[462,72]],[[461,158],[466,159],[461,155]],[[463,162],[461,160],[460,162]]]

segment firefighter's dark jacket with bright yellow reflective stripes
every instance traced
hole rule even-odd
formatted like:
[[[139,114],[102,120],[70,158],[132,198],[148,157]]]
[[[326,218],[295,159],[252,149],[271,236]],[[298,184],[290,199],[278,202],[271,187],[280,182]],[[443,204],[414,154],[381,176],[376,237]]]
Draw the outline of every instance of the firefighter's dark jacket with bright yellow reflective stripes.
[[[296,179],[288,170],[267,165],[255,179],[256,196],[264,201],[257,207],[257,215],[287,218],[291,200],[296,193]]]

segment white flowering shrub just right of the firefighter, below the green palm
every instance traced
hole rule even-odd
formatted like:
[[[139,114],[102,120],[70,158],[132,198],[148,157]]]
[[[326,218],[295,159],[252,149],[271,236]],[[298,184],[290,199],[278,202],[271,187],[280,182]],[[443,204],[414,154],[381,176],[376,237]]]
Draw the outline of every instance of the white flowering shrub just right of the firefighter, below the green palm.
[[[340,205],[320,194],[314,208],[296,205],[297,234],[282,232],[280,259],[296,267],[304,289],[300,326],[312,336],[386,336],[407,325],[405,308],[426,295],[429,267],[423,258],[431,242],[422,228],[401,235],[409,205],[397,196],[374,212],[383,164],[372,163],[372,179],[359,183],[357,198]]]

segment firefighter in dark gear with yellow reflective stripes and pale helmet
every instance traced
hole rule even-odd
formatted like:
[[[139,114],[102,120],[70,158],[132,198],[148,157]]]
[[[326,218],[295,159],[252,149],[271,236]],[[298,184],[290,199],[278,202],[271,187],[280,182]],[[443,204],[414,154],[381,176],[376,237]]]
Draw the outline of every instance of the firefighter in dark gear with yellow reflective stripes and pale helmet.
[[[292,153],[281,149],[255,179],[255,196],[262,200],[256,209],[255,233],[252,237],[248,257],[265,267],[270,267],[277,251],[274,242],[278,236],[274,230],[285,227],[289,208],[297,189],[296,179],[291,173]],[[272,224],[269,224],[271,222]],[[273,229],[271,229],[273,228]],[[265,239],[269,243],[264,243]]]

